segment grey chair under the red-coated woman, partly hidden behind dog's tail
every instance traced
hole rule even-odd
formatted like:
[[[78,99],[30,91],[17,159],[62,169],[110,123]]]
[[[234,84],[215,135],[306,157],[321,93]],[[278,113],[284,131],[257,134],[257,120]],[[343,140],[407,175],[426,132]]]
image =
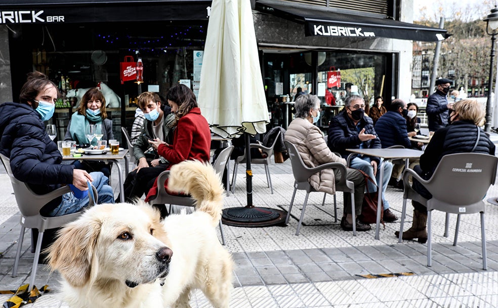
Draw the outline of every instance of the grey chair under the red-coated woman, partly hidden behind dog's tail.
[[[232,153],[232,151],[233,151],[233,145],[226,147],[220,152],[218,158],[213,163],[213,168],[215,169],[215,172],[218,173],[220,176],[223,176],[225,166],[227,165],[228,160],[230,159],[230,154]],[[155,199],[149,201],[149,204],[169,204],[170,213],[173,212],[173,205],[195,207],[195,200],[190,197],[180,197],[168,194],[168,192],[164,188],[164,182],[166,181],[166,179],[168,179],[169,176],[170,176],[169,170],[163,171],[161,172],[161,174],[159,174],[159,176],[157,177],[157,195]],[[225,234],[223,232],[223,224],[221,222],[221,219],[220,219],[220,233],[221,233],[221,243],[225,245]]]

